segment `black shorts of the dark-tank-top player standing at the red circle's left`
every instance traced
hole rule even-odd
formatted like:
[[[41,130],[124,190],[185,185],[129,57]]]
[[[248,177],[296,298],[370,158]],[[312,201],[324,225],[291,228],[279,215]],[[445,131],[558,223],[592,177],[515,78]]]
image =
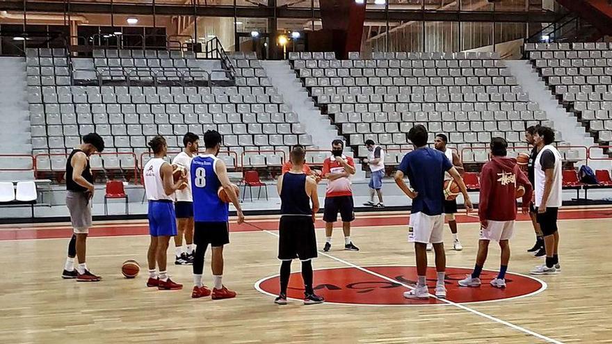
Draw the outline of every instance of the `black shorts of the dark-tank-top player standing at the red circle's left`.
[[[278,259],[316,258],[316,236],[310,216],[282,216],[278,227]]]

